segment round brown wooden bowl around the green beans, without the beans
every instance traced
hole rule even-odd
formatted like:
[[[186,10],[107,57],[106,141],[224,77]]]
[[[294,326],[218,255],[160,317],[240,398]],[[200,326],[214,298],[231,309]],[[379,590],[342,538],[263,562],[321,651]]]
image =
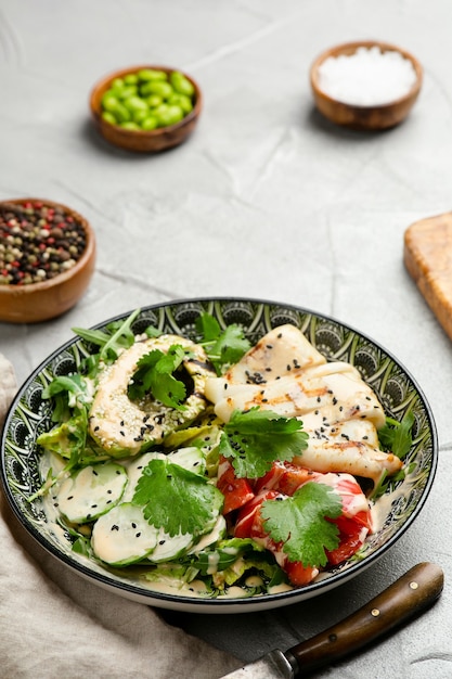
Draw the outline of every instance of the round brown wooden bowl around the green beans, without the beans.
[[[183,73],[185,78],[190,80],[195,89],[193,98],[193,110],[179,123],[170,125],[168,127],[160,127],[154,130],[128,130],[118,125],[112,125],[102,117],[102,97],[109,89],[115,78],[122,78],[124,76],[137,73],[142,68],[152,68],[156,71],[164,71],[167,74],[179,71],[178,68],[170,68],[168,66],[155,66],[155,65],[142,65],[130,66],[129,68],[121,68],[111,75],[102,78],[93,88],[90,95],[90,108],[91,116],[94,120],[94,125],[102,137],[115,146],[127,149],[128,151],[137,151],[141,153],[155,153],[165,151],[178,146],[191,134],[198,121],[202,107],[203,107],[203,94],[199,86],[191,76]]]

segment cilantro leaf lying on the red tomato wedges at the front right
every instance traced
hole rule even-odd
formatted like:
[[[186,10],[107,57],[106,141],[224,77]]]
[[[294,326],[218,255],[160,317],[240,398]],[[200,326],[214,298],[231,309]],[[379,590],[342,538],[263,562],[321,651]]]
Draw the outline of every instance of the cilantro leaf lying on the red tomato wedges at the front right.
[[[324,566],[325,550],[332,551],[339,545],[339,529],[326,517],[337,518],[341,511],[341,498],[333,488],[308,482],[285,500],[262,502],[261,516],[272,540],[284,543],[289,561]]]

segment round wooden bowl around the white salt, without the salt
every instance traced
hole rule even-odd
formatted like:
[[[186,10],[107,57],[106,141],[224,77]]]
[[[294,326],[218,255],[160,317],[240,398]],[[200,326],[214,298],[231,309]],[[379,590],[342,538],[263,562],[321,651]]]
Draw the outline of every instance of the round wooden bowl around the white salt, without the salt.
[[[415,72],[415,82],[410,91],[395,99],[390,103],[375,105],[356,105],[338,101],[322,90],[319,68],[330,56],[337,57],[340,55],[354,54],[358,48],[378,48],[384,52],[398,52],[404,59],[409,60]],[[421,91],[423,81],[423,68],[421,63],[406,50],[375,40],[361,42],[347,42],[331,48],[320,54],[313,62],[310,71],[310,82],[312,88],[315,105],[319,111],[332,123],[341,125],[356,130],[383,130],[399,125],[411,111]]]

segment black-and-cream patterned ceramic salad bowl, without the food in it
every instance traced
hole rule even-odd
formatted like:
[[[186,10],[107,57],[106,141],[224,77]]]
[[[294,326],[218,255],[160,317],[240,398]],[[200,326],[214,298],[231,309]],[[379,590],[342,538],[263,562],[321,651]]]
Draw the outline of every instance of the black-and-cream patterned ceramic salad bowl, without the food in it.
[[[224,328],[238,323],[250,342],[257,342],[272,328],[292,323],[331,360],[353,363],[372,385],[388,415],[401,420],[414,415],[413,445],[405,458],[409,472],[403,481],[389,484],[382,497],[380,527],[372,534],[360,551],[340,566],[322,574],[310,585],[289,591],[243,598],[197,599],[168,591],[153,591],[152,584],[140,579],[133,568],[108,568],[73,551],[74,535],[49,521],[42,501],[28,498],[41,485],[40,451],[37,436],[52,428],[51,408],[41,398],[42,389],[57,375],[77,370],[90,354],[90,347],[74,338],[55,349],[28,377],[17,393],[5,421],[1,441],[1,478],[4,495],[13,512],[28,533],[60,562],[92,582],[128,599],[177,611],[195,613],[248,613],[293,604],[344,584],[361,574],[389,550],[413,524],[434,483],[438,441],[430,408],[414,379],[401,363],[380,345],[350,326],[299,307],[258,299],[202,298],[171,302],[142,308],[132,330],[142,333],[153,325],[163,332],[195,338],[195,321],[207,311]],[[124,320],[129,313],[104,321]],[[378,502],[380,501],[378,500]],[[397,558],[397,556],[396,556]],[[403,554],[400,554],[403,560]]]

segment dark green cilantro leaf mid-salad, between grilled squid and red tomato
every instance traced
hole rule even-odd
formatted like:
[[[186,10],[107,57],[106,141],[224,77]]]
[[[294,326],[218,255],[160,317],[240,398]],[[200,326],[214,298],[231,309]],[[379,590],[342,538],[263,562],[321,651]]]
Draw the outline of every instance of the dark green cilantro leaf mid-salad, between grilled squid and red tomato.
[[[235,410],[224,425],[220,454],[231,458],[238,477],[260,478],[275,460],[290,461],[308,446],[302,422],[271,410]]]

